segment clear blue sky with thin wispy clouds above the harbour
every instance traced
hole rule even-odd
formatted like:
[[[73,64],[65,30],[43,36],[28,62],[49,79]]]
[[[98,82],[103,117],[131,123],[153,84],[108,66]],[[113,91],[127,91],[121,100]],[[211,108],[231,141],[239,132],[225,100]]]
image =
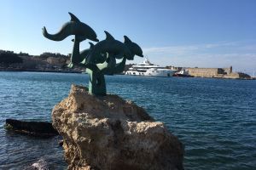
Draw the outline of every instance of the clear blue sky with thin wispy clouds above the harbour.
[[[124,35],[130,37],[158,65],[256,71],[254,0],[2,0],[0,49],[71,53],[73,37],[53,42],[42,35],[43,26],[49,33],[59,31],[70,20],[67,12],[92,27],[100,40],[105,30],[122,42]],[[88,42],[80,48],[88,48]]]

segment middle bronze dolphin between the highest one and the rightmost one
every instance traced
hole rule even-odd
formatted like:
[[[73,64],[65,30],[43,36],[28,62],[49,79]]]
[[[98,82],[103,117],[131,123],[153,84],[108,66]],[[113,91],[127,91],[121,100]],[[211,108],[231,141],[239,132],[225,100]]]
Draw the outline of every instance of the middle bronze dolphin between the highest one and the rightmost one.
[[[114,57],[117,59],[122,59],[123,57],[131,58],[132,54],[129,48],[125,46],[125,43],[119,42],[118,40],[115,40],[111,34],[108,33],[108,31],[104,31],[106,34],[106,39],[102,40],[101,42],[97,42],[96,45],[94,45],[92,51],[88,56],[86,57],[86,62],[84,64],[88,63],[95,63],[96,59],[98,59],[97,56],[106,55],[108,53],[108,56]]]

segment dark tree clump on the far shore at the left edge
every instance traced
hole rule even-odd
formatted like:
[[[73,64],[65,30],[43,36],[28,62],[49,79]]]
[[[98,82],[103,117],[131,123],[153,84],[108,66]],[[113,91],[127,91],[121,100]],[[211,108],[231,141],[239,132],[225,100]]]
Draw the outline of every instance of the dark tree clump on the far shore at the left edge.
[[[3,51],[0,50],[0,63],[4,64],[13,64],[13,63],[22,63],[23,59],[21,59],[18,54],[15,54],[13,51]]]

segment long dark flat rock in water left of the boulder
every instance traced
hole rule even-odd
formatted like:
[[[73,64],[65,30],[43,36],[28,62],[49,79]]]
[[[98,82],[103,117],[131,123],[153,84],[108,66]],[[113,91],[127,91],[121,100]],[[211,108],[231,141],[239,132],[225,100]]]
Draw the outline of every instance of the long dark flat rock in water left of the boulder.
[[[34,136],[50,137],[59,133],[52,127],[50,122],[24,122],[15,119],[6,119],[7,129],[12,129],[17,133],[32,134]]]

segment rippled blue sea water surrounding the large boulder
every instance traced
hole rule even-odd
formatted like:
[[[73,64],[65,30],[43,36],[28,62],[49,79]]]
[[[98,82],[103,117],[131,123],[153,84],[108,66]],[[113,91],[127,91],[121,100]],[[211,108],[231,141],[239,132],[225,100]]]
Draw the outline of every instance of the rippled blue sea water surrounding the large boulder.
[[[256,169],[256,81],[107,76],[108,93],[143,106],[185,146],[185,169]],[[71,84],[88,75],[0,72],[0,169],[38,160],[65,169],[60,137],[37,139],[4,129],[5,119],[51,121]]]

